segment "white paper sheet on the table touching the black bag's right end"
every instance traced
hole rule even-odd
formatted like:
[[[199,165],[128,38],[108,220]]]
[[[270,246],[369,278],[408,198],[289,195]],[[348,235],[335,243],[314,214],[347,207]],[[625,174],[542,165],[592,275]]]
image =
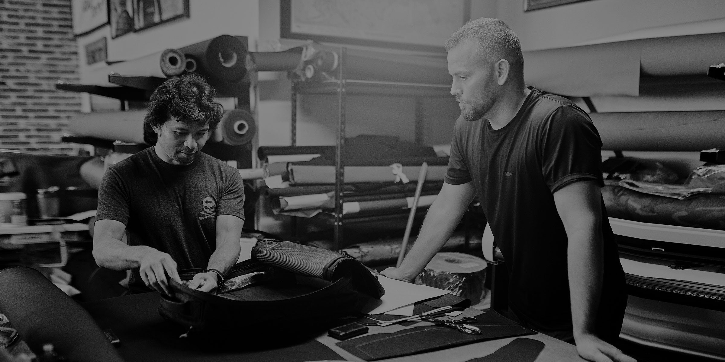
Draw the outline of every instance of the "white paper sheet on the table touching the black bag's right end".
[[[390,279],[382,275],[378,275],[378,282],[385,289],[385,295],[378,303],[365,306],[363,313],[380,314],[386,311],[392,311],[395,308],[407,306],[421,300],[436,298],[444,294],[448,294],[447,290],[442,290],[427,285],[415,285],[402,282],[396,279]]]

